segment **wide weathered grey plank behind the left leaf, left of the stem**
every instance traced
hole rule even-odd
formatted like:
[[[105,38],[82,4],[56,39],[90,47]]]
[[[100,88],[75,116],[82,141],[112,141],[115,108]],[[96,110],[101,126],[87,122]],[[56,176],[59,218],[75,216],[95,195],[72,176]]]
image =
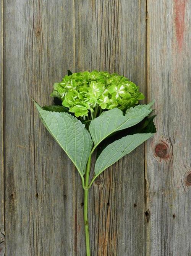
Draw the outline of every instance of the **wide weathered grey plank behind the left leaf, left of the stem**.
[[[73,255],[74,168],[31,100],[74,67],[68,1],[5,2],[6,255]]]

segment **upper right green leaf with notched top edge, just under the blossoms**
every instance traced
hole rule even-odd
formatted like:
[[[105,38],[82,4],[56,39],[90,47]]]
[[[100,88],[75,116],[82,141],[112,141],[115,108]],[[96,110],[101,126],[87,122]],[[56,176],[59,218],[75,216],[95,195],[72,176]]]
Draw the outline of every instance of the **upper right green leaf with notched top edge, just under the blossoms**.
[[[89,126],[89,131],[94,141],[95,147],[106,137],[113,132],[126,129],[128,127],[134,126],[148,116],[151,112],[151,106],[154,103],[147,105],[138,105],[136,107],[131,107],[125,113],[114,108],[103,112],[99,117],[93,119]]]

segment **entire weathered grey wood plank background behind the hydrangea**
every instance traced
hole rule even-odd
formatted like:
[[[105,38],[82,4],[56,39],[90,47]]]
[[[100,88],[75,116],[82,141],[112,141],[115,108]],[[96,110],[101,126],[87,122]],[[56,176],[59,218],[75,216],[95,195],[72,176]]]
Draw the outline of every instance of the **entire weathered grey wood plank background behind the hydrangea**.
[[[84,256],[83,191],[32,103],[71,71],[127,76],[158,132],[91,189],[92,256],[191,256],[190,0],[1,0],[0,256]]]

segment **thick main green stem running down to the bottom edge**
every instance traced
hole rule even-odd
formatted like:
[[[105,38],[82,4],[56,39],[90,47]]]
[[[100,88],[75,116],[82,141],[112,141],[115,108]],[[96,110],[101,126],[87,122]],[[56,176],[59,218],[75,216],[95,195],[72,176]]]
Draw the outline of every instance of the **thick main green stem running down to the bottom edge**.
[[[91,155],[87,161],[86,178],[84,189],[84,227],[86,235],[86,255],[90,256],[90,243],[89,243],[89,223],[88,223],[88,192],[89,192],[89,173],[91,168]]]

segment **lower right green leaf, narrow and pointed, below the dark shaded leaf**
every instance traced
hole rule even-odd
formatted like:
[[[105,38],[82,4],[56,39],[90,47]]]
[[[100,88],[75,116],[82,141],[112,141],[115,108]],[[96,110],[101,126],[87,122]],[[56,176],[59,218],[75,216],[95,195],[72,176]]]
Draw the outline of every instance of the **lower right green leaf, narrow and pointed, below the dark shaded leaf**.
[[[127,135],[109,144],[95,162],[95,175],[98,176],[106,168],[129,154],[152,135],[152,133]]]

